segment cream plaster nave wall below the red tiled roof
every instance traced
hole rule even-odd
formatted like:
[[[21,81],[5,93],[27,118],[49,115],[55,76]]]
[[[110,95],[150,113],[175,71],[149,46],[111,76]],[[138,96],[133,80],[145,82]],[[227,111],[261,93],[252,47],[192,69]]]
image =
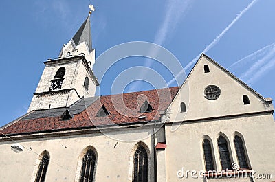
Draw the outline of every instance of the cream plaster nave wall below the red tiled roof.
[[[140,130],[129,135],[127,132],[109,133],[112,137],[144,138],[151,130]],[[142,139],[148,146],[149,174],[153,174],[153,153],[151,150],[151,137]],[[0,143],[0,181],[31,181],[34,174],[34,166],[37,168],[37,159],[44,150],[50,153],[45,181],[75,181],[78,158],[87,146],[96,149],[98,158],[96,164],[95,181],[131,181],[129,174],[133,164],[130,156],[133,156],[133,148],[137,141],[124,142],[111,139],[102,133],[77,135],[69,137],[54,137],[43,139],[28,139],[17,141],[25,147],[21,153],[15,153],[10,149],[12,141]],[[81,167],[80,167],[81,168]],[[151,175],[151,179],[153,177]]]

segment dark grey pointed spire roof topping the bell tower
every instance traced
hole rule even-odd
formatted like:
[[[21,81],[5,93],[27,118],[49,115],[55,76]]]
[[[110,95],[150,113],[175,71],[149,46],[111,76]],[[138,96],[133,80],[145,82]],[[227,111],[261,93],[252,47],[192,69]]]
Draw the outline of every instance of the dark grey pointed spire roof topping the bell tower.
[[[74,43],[77,45],[80,45],[80,43],[83,43],[86,41],[89,51],[91,52],[92,46],[91,46],[91,21],[90,21],[90,14],[87,17],[87,19],[84,21],[84,23],[79,28],[78,32],[74,35],[72,38]]]

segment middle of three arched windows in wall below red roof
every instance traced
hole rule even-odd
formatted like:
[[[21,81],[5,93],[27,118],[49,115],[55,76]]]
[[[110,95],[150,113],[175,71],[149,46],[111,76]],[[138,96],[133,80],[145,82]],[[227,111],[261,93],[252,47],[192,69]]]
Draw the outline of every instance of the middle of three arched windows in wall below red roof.
[[[80,182],[92,182],[94,180],[94,170],[96,166],[96,155],[89,149],[83,157]]]

